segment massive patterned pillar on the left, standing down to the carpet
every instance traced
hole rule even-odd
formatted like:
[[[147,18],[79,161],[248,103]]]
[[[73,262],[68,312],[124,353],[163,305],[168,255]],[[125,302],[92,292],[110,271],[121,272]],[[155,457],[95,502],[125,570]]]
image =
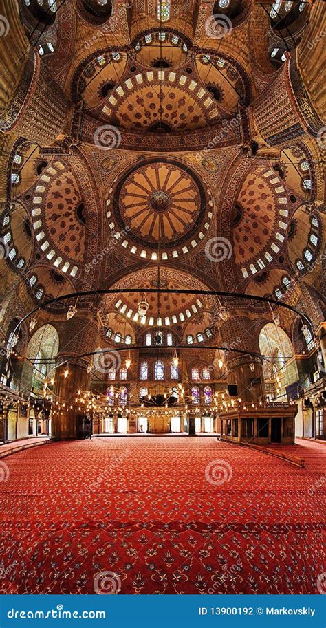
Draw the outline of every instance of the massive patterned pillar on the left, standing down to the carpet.
[[[56,439],[76,438],[78,435],[78,411],[76,412],[75,398],[78,390],[88,391],[91,374],[87,373],[87,363],[91,358],[80,360],[80,354],[95,351],[98,329],[96,322],[91,318],[74,316],[63,325],[63,334],[60,338],[60,351],[57,356],[56,376],[54,382],[54,405],[52,413],[52,437]],[[65,378],[66,360],[69,361],[69,374]],[[62,366],[60,366],[62,365]],[[65,404],[61,411],[56,411],[56,401]],[[72,408],[70,407],[72,405]],[[83,410],[80,411],[83,415]]]

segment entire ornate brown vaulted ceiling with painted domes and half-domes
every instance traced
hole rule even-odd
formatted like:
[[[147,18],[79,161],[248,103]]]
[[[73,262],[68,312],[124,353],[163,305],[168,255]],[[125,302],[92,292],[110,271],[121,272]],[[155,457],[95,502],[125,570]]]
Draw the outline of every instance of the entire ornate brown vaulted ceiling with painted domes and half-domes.
[[[3,57],[0,93],[4,328],[41,306],[60,357],[142,346],[161,327],[190,345],[185,364],[239,336],[259,354],[276,314],[289,338],[295,310],[318,336],[321,8],[288,4],[278,21],[251,0],[14,3],[17,67]]]

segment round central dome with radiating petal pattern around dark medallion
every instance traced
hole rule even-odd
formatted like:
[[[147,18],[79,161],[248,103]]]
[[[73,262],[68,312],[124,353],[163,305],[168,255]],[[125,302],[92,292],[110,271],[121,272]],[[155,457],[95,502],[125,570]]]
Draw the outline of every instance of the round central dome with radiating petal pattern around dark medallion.
[[[119,230],[127,230],[133,243],[156,249],[160,241],[166,250],[184,246],[200,230],[206,215],[205,192],[188,166],[150,159],[121,177],[113,192],[113,208]]]

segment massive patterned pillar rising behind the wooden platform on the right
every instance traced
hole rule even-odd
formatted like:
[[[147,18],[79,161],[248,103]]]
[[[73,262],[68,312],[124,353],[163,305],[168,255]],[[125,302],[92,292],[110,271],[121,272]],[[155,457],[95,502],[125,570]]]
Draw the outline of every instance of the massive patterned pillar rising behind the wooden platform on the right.
[[[228,385],[237,386],[237,397],[243,402],[257,402],[265,399],[265,382],[261,360],[255,357],[259,353],[258,333],[254,321],[246,316],[235,316],[221,325],[221,338],[226,347],[246,351],[237,354],[226,352]],[[254,370],[250,368],[254,365]]]

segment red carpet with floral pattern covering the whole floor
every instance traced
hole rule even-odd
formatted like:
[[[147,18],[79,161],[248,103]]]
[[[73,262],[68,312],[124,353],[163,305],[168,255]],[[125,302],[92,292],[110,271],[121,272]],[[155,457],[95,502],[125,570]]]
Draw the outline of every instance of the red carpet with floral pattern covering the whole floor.
[[[109,570],[120,594],[318,593],[326,448],[285,449],[306,468],[214,437],[64,442],[0,461],[0,592],[92,594]],[[210,463],[223,484],[206,479]]]

